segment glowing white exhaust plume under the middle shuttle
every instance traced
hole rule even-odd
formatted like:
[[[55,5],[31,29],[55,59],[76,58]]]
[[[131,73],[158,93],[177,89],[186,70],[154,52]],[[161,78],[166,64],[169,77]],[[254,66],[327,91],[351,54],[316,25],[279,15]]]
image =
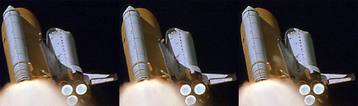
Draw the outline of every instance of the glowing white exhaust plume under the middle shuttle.
[[[119,106],[186,106],[173,83],[162,79],[125,83],[119,88]]]

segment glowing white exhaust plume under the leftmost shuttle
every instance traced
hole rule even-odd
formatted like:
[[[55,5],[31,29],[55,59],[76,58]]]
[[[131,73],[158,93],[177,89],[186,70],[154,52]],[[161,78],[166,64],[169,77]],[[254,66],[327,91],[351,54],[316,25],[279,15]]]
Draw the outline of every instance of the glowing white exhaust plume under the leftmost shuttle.
[[[0,91],[0,106],[68,106],[61,87],[48,79],[6,84]]]

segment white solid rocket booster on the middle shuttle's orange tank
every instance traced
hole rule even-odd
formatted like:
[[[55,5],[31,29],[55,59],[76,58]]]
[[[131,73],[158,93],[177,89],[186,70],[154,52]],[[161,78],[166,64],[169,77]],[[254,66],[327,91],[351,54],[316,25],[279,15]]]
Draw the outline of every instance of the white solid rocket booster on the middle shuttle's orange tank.
[[[128,6],[122,17],[126,30],[134,78],[137,82],[150,79],[151,75],[149,73],[150,70],[139,12],[132,6]]]

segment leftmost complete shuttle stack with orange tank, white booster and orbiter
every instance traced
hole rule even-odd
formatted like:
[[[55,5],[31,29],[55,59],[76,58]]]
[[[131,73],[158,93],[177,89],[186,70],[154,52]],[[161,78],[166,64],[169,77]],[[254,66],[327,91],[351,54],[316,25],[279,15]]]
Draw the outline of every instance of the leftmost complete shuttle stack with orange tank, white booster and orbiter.
[[[73,106],[89,100],[90,85],[118,79],[116,74],[83,73],[70,32],[50,28],[45,44],[31,11],[8,6],[3,18],[1,33],[11,83],[48,78],[62,87],[68,105]]]

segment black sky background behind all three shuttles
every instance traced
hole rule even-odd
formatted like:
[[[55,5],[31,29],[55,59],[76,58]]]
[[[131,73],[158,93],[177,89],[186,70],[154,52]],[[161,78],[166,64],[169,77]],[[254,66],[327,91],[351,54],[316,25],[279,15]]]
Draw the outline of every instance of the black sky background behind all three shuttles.
[[[118,81],[92,86],[98,105],[118,105],[119,86],[129,81],[121,43],[122,14],[127,5],[146,8],[158,19],[162,36],[172,27],[193,35],[203,73],[236,73],[235,82],[210,87],[212,105],[238,105],[239,85],[248,80],[240,41],[241,13],[250,5],[269,10],[281,35],[299,28],[312,35],[321,73],[354,73],[357,77],[357,1],[1,1],[23,7],[39,20],[42,33],[58,27],[74,36],[84,72],[117,73]],[[1,17],[1,20],[2,17]],[[9,82],[1,42],[0,87]],[[331,85],[325,105],[358,105],[357,80]]]

